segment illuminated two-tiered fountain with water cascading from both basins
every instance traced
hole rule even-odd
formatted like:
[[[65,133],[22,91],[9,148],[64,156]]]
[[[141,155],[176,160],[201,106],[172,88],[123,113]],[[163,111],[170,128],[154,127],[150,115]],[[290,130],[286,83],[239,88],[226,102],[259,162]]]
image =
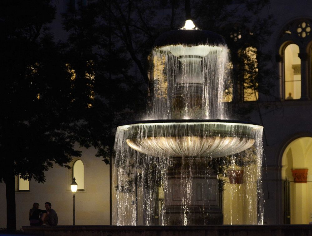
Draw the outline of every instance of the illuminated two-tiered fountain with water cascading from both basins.
[[[263,127],[229,120],[222,37],[169,31],[152,64],[147,118],[116,132],[113,224],[262,224]]]

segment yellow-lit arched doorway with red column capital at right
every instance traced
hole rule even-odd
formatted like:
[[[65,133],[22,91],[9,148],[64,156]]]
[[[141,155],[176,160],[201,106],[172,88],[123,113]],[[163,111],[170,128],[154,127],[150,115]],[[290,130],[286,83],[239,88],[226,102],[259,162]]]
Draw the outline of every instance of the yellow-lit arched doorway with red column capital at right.
[[[290,142],[282,156],[284,223],[312,221],[312,137]]]

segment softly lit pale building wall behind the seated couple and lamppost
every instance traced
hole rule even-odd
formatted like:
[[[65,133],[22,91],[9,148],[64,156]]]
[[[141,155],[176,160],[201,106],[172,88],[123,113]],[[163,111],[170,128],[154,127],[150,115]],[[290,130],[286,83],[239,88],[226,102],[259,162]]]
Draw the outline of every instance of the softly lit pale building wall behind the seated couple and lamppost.
[[[72,178],[76,178],[75,225],[110,224],[110,167],[95,157],[95,149],[83,150],[82,156],[72,160],[67,169],[54,165],[46,171],[46,182],[23,181],[16,177],[16,227],[29,225],[29,209],[34,202],[45,210],[45,202],[58,215],[58,225],[73,224]],[[75,176],[74,176],[75,174]],[[83,187],[82,187],[83,186]],[[5,184],[0,184],[0,228],[6,228]]]

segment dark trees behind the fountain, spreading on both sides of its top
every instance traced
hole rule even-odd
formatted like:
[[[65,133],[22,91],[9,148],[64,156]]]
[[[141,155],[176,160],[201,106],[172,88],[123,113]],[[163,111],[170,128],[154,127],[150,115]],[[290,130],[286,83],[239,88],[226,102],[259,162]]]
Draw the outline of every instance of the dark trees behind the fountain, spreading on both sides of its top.
[[[70,64],[78,72],[81,63],[93,62],[95,98],[87,110],[87,145],[95,146],[97,155],[109,162],[115,128],[138,119],[151,91],[148,58],[155,39],[162,32],[181,28],[189,17],[199,28],[215,31],[226,40],[233,66],[229,83],[233,89],[228,91],[231,104],[241,111],[239,117],[246,117],[255,107],[254,103],[240,105],[247,93],[251,97],[255,93],[258,100],[269,96],[271,82],[277,78],[267,67],[269,54],[261,51],[273,24],[270,15],[259,14],[268,4],[268,0],[90,0],[87,6],[66,14]]]

